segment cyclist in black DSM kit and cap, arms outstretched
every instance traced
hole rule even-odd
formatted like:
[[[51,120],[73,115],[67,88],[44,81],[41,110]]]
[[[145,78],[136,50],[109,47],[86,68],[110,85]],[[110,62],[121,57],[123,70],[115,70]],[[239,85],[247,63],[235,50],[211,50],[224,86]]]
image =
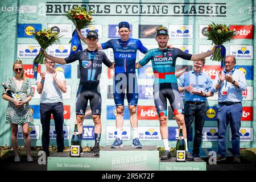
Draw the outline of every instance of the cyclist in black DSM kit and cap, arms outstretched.
[[[111,63],[103,51],[96,49],[98,34],[96,31],[89,31],[87,34],[88,48],[84,51],[74,53],[71,57],[65,59],[50,56],[44,51],[44,57],[59,64],[73,63],[79,60],[80,84],[76,96],[76,120],[80,138],[82,137],[82,122],[88,101],[92,109],[92,118],[94,122],[95,145],[93,154],[100,155],[100,137],[101,137],[101,94],[100,94],[100,75],[102,62],[109,68],[114,69],[114,63]],[[80,147],[82,148],[82,147]],[[82,153],[82,150],[81,150]]]

